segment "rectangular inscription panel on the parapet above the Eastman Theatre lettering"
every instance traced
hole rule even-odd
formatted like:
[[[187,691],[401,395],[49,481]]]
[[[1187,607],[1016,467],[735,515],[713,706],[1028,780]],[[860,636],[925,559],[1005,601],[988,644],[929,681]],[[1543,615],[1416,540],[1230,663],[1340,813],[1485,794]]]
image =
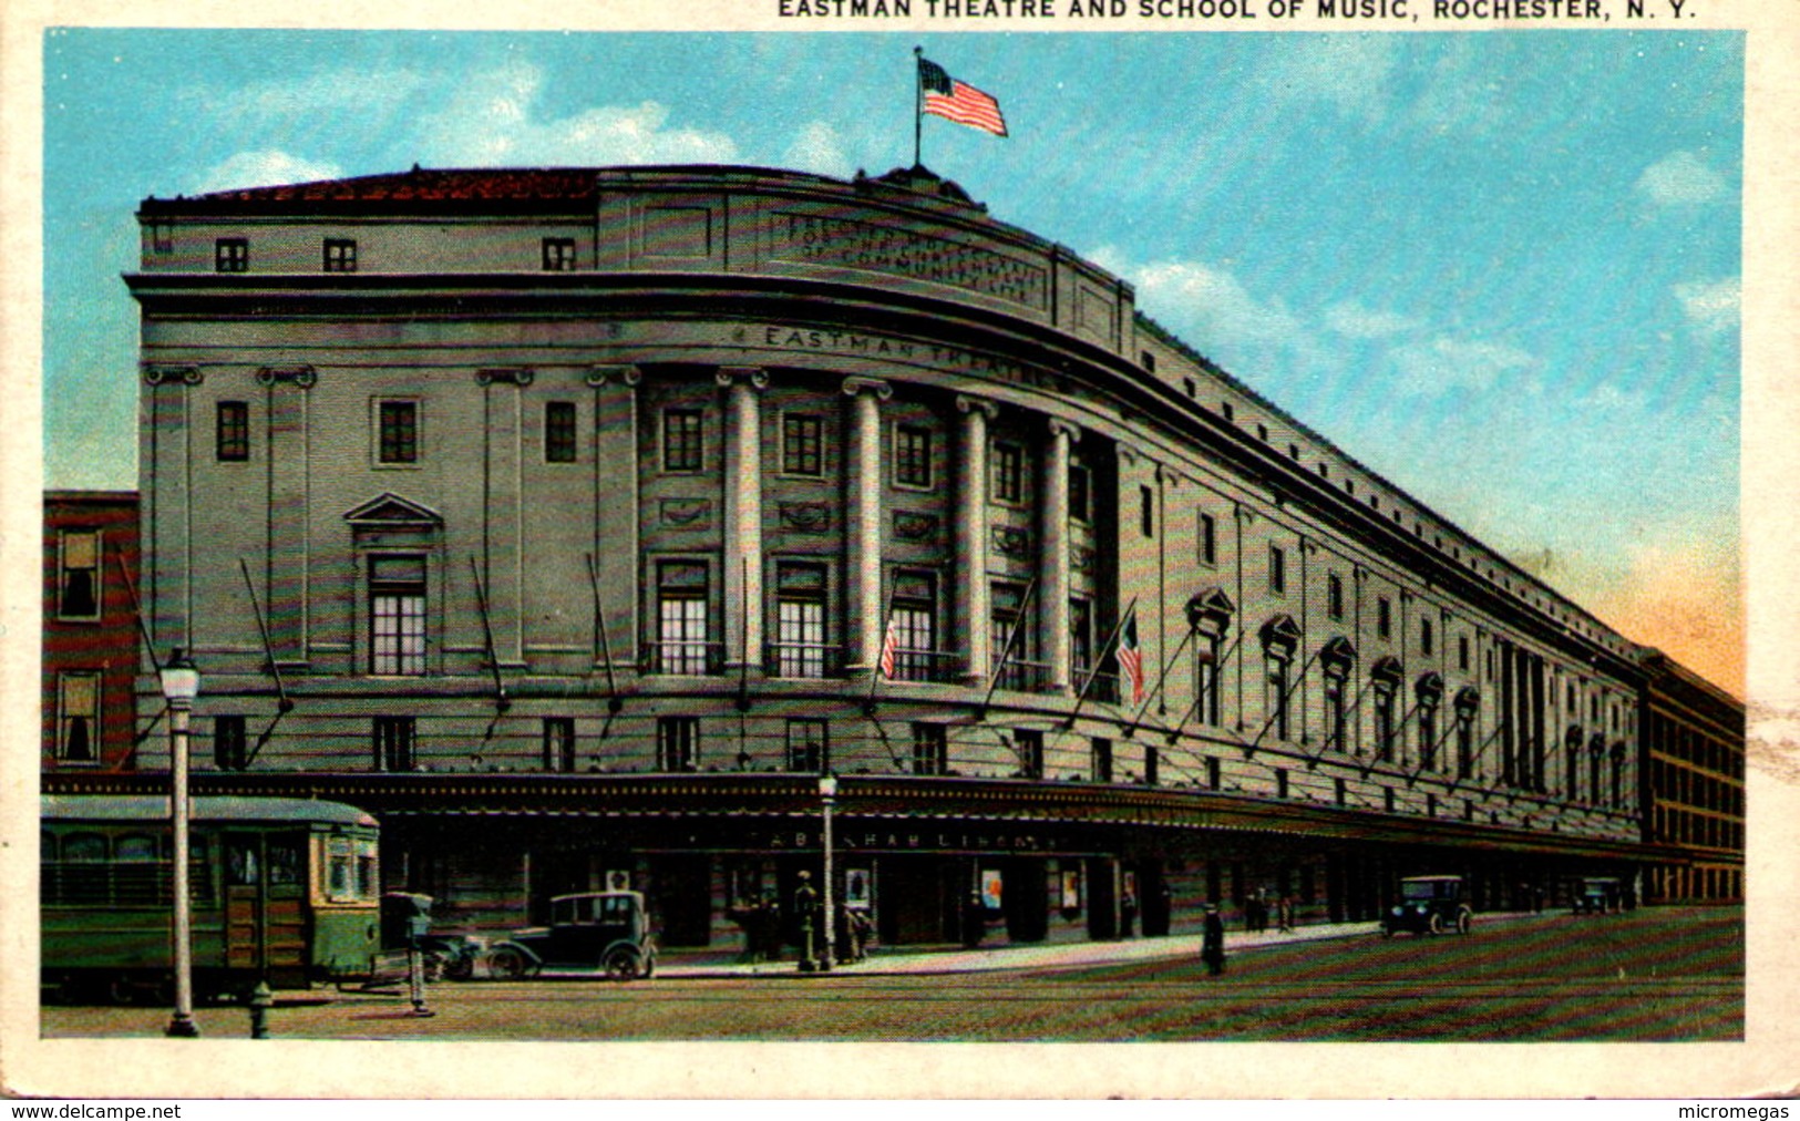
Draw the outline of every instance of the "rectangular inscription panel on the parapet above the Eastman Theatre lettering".
[[[778,212],[774,214],[772,256],[778,261],[864,268],[949,284],[1033,311],[1046,308],[1046,293],[1049,291],[1046,270],[1028,261],[949,238],[932,238],[853,218]]]

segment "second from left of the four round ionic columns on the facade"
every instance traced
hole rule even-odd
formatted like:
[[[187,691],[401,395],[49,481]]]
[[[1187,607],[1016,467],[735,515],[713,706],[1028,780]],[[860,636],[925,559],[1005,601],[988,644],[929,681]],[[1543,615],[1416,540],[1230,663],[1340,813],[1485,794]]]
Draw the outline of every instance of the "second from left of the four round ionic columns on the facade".
[[[844,668],[871,669],[882,648],[882,417],[893,387],[877,378],[844,378],[850,439],[844,455],[844,552],[850,619]]]

